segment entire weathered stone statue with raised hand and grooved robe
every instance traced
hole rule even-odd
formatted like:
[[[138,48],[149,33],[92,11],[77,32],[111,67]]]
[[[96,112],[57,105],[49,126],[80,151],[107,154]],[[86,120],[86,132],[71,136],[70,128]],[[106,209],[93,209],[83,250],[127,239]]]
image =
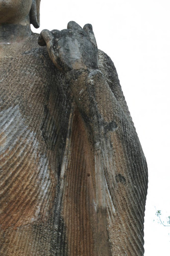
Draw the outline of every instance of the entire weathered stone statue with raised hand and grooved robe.
[[[0,0],[0,254],[143,255],[147,164],[116,69],[89,24],[32,33],[39,5]]]

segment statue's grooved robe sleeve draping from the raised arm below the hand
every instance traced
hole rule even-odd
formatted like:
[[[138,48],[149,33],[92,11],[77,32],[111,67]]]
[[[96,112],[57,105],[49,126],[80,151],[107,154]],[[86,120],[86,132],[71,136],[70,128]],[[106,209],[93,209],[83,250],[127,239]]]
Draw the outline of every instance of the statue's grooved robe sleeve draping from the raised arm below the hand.
[[[62,168],[69,255],[143,255],[147,163],[111,59],[72,82]]]

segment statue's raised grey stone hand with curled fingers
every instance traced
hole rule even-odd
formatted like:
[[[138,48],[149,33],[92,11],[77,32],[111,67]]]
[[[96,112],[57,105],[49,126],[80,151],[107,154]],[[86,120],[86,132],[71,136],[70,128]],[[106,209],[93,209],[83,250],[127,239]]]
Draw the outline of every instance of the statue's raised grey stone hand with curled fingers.
[[[98,69],[98,48],[92,26],[82,29],[76,22],[69,22],[64,30],[42,30],[38,44],[47,47],[50,58],[62,72]]]

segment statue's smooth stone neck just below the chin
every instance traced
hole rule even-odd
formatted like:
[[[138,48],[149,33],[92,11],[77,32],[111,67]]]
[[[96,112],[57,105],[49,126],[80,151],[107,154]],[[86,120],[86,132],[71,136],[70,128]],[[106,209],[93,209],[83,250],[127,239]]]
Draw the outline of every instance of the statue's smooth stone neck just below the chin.
[[[12,44],[27,39],[31,35],[29,25],[3,24],[0,25],[0,44]]]

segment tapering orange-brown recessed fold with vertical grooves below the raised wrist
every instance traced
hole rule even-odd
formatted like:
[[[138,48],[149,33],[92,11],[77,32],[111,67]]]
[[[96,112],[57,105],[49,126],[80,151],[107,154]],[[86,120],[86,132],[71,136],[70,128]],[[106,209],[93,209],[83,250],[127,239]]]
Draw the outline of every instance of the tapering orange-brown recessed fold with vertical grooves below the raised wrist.
[[[68,159],[63,199],[68,255],[96,255],[93,152],[84,123],[77,111],[72,123]]]

